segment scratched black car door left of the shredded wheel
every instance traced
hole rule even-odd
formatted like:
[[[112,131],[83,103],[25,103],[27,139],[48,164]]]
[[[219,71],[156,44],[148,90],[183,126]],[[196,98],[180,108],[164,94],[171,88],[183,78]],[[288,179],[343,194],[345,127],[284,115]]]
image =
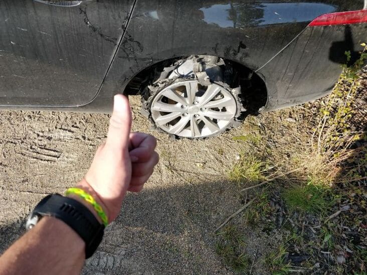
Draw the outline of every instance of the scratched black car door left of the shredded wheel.
[[[0,106],[93,100],[132,6],[132,0],[1,0]]]

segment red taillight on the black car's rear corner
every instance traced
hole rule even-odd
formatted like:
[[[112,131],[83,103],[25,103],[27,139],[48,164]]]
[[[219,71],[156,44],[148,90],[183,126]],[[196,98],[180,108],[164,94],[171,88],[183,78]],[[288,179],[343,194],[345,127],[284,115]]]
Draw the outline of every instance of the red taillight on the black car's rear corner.
[[[330,26],[367,22],[367,10],[326,14],[317,17],[309,26]]]

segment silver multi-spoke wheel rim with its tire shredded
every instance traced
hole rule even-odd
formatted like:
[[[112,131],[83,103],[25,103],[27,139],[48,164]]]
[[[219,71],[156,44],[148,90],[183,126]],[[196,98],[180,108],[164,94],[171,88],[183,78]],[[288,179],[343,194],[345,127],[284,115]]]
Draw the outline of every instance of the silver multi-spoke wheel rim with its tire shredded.
[[[236,112],[236,100],[227,89],[215,83],[201,86],[197,80],[164,88],[151,104],[152,118],[159,128],[189,138],[223,131]]]

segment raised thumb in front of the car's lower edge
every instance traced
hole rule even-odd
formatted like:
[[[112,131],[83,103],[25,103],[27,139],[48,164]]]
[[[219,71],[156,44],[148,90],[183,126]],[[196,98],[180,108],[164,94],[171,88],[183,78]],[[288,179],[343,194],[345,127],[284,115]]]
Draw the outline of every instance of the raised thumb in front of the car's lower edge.
[[[131,130],[131,109],[127,97],[115,95],[106,145],[116,150],[127,149]]]

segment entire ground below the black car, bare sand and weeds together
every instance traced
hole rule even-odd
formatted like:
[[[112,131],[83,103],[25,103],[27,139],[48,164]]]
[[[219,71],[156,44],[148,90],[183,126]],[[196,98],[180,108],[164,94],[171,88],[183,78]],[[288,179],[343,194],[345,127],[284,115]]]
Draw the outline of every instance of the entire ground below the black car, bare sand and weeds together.
[[[353,133],[365,133],[363,83],[352,104]],[[312,127],[323,100],[249,116],[219,137],[172,140],[151,130],[140,115],[139,98],[130,97],[133,131],[157,138],[160,162],[144,190],[127,195],[121,215],[107,227],[83,274],[364,271],[367,189],[362,179],[367,164],[357,152],[363,155],[367,148],[365,135],[357,135],[355,146],[349,146],[346,166],[313,158]],[[83,177],[106,137],[108,120],[103,114],[0,111],[0,253],[24,233],[27,215],[43,196],[63,193]],[[246,160],[251,160],[241,166],[246,171],[237,175],[250,174],[238,181],[235,168]],[[264,167],[247,169],[257,161]],[[294,168],[298,171],[272,183],[240,191]],[[333,186],[332,192],[325,189],[333,205],[318,214],[287,209],[286,191],[308,185],[315,175],[328,180],[327,190]],[[249,209],[215,232],[251,198],[256,200]],[[339,209],[350,210],[340,214]],[[340,216],[326,223],[333,213]]]

